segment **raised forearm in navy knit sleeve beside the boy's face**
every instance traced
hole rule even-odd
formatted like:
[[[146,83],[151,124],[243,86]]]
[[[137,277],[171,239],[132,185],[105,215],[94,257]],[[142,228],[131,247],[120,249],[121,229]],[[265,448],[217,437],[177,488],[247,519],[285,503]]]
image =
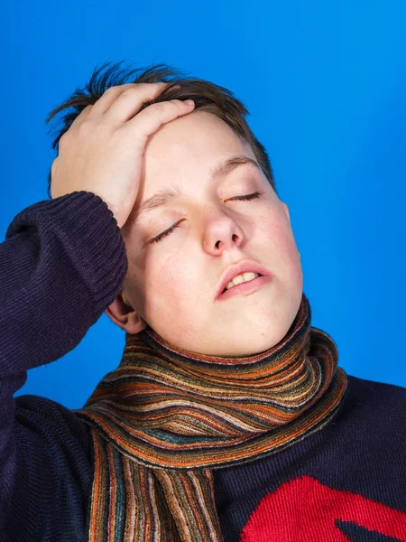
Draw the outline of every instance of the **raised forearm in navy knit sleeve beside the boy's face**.
[[[0,245],[0,378],[59,359],[114,300],[125,244],[90,192],[19,213]]]

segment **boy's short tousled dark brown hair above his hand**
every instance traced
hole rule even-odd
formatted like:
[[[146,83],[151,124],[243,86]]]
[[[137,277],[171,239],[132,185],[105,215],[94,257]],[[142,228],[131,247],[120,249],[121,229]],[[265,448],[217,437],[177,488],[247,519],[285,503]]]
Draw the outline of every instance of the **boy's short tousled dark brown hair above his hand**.
[[[59,152],[60,137],[69,130],[76,117],[81,111],[97,102],[110,87],[124,85],[125,83],[158,83],[168,82],[157,98],[143,103],[140,111],[152,103],[171,99],[193,99],[195,102],[194,111],[207,111],[224,120],[232,128],[235,135],[240,137],[246,144],[253,149],[258,164],[268,182],[276,192],[273,179],[272,165],[270,163],[265,147],[256,139],[250,127],[248,126],[245,115],[249,111],[244,104],[235,98],[233,92],[224,87],[210,83],[205,79],[188,79],[180,70],[175,70],[168,64],[154,64],[149,68],[135,68],[128,70],[122,69],[120,61],[108,67],[110,62],[103,64],[98,70],[93,71],[88,83],[82,89],[76,89],[70,98],[64,101],[60,106],[51,111],[46,119],[50,122],[60,111],[73,107],[73,112],[66,112],[62,117],[63,127],[56,129],[56,137],[53,140],[52,148]],[[176,85],[180,88],[174,89]],[[276,192],[277,193],[277,192]],[[51,199],[51,169],[48,174],[48,196]]]

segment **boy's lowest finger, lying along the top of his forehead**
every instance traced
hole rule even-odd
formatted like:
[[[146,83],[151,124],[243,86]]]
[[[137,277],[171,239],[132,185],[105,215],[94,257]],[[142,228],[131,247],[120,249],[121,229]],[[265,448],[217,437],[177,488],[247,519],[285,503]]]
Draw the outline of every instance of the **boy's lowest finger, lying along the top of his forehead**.
[[[125,129],[131,130],[134,133],[135,144],[143,147],[148,137],[154,134],[161,125],[190,113],[194,107],[194,103],[188,105],[181,99],[152,104],[129,120],[125,124]]]

